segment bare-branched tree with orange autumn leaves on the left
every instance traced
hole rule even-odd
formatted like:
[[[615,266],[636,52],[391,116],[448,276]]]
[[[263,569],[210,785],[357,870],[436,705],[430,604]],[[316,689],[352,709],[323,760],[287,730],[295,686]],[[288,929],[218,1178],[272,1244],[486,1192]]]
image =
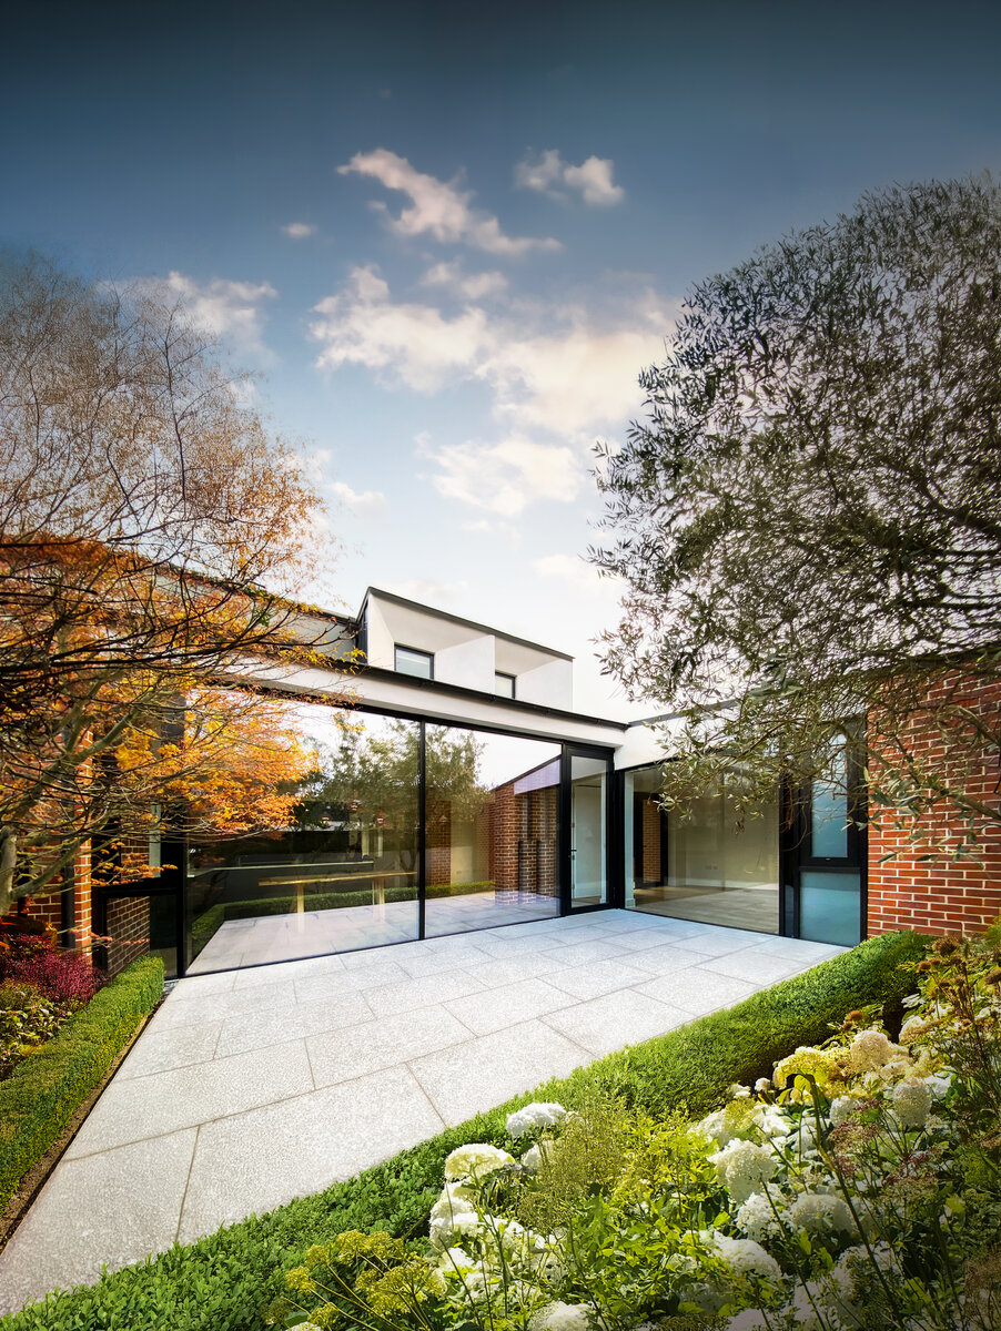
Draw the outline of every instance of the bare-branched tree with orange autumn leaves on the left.
[[[322,504],[250,402],[181,306],[0,265],[0,910],[110,820],[204,821],[217,781],[253,824],[250,773],[302,769],[248,662],[330,664]]]

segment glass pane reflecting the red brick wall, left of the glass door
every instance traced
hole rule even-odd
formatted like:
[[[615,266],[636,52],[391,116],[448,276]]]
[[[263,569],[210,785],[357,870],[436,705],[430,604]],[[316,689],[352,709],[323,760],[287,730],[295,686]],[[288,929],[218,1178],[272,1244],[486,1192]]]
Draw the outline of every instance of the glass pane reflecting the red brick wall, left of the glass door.
[[[427,727],[427,937],[559,912],[559,748]]]

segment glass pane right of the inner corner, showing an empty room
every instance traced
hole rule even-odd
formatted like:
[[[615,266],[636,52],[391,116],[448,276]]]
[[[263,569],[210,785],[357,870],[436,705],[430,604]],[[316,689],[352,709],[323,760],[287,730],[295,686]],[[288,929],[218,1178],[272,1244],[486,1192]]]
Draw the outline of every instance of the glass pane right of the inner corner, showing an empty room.
[[[725,791],[686,815],[658,804],[656,767],[626,773],[626,904],[655,914],[779,932],[779,807],[743,827]]]

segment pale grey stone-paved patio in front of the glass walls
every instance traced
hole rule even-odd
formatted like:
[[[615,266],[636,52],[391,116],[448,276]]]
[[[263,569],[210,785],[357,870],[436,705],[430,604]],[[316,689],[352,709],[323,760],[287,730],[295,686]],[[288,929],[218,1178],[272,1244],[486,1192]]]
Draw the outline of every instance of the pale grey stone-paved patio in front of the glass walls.
[[[182,980],[0,1254],[0,1311],[318,1193],[840,950],[614,910]]]

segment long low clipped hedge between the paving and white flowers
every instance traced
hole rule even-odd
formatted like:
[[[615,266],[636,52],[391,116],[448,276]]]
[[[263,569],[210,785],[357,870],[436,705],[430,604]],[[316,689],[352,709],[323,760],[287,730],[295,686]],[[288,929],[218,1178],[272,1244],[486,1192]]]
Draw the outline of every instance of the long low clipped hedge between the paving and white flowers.
[[[96,1286],[49,1295],[0,1319],[4,1331],[261,1331],[261,1308],[284,1292],[284,1271],[310,1243],[342,1230],[426,1231],[445,1157],[471,1141],[502,1143],[504,1119],[530,1099],[579,1105],[595,1089],[615,1090],[658,1113],[687,1103],[716,1105],[733,1081],[771,1070],[796,1045],[825,1040],[827,1024],[869,1002],[899,1004],[914,988],[913,965],[928,940],[884,934],[804,976],[784,980],[728,1012],[611,1054],[570,1077],[449,1129],[357,1178],[249,1217],[188,1247],[174,1244],[138,1266],[105,1274]],[[901,969],[904,966],[905,969]]]

